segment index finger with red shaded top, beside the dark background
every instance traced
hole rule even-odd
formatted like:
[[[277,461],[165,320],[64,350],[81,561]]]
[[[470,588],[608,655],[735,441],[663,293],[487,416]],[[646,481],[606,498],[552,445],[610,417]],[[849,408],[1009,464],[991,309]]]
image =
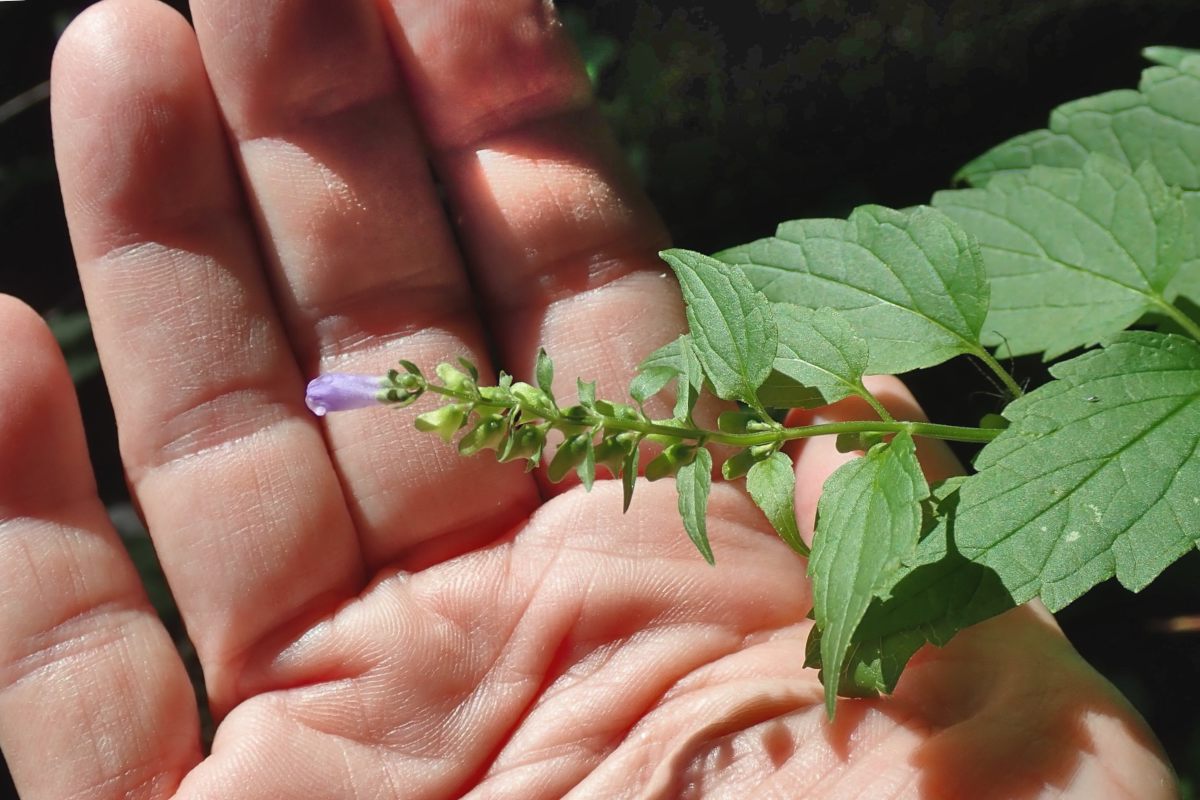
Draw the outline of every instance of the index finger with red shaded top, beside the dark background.
[[[683,330],[667,235],[542,0],[390,0],[391,35],[505,363],[620,399]]]

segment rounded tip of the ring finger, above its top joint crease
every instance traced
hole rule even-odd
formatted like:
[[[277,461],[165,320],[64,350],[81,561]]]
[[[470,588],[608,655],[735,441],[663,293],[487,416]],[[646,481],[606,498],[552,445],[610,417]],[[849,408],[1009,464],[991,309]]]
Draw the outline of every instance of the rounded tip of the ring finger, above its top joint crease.
[[[80,261],[187,213],[180,186],[238,199],[220,188],[227,155],[196,35],[162,2],[102,0],[71,23],[50,68],[50,119]]]

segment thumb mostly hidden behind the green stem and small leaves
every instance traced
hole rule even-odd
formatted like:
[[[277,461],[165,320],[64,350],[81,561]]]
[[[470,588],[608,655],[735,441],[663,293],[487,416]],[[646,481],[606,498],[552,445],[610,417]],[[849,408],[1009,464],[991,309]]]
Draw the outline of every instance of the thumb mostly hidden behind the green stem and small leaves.
[[[890,375],[874,375],[866,379],[866,387],[895,419],[925,421],[925,413],[920,410],[917,399],[899,379]],[[878,419],[875,411],[860,398],[852,397],[817,409],[808,416],[804,423],[816,425],[871,419]],[[805,439],[797,451],[796,517],[799,522],[800,536],[811,545],[812,525],[817,516],[817,500],[821,498],[824,481],[835,469],[854,458],[856,453],[838,452],[834,437]],[[958,458],[946,446],[946,443],[938,439],[918,437],[917,459],[930,483],[962,474],[962,465],[959,464]]]

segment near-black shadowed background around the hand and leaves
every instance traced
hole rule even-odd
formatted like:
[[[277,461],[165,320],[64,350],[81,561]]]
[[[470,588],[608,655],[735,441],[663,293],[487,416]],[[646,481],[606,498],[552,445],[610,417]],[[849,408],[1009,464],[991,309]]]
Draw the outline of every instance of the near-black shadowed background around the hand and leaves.
[[[86,5],[0,2],[0,291],[43,312],[64,343],[101,493],[187,656],[128,506],[62,219],[48,104],[40,100],[54,42]],[[562,0],[559,7],[676,241],[700,251],[768,235],[781,219],[925,201],[971,157],[1043,127],[1054,106],[1136,85],[1140,48],[1200,47],[1195,0]],[[1012,368],[1019,379],[1044,379],[1037,361]],[[923,371],[910,384],[935,421],[973,425],[998,404],[965,363]],[[1200,786],[1200,633],[1175,622],[1193,615],[1200,615],[1196,553],[1141,595],[1110,583],[1060,615],[1075,645],[1150,721],[1187,796]],[[6,783],[0,764],[0,796],[13,794]]]

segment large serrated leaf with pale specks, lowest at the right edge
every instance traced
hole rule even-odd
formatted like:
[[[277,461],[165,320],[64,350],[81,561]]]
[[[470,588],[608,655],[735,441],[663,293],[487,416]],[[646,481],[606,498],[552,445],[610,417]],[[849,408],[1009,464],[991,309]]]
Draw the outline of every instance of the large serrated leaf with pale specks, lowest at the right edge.
[[[955,543],[1021,603],[1138,591],[1200,543],[1200,344],[1126,332],[1055,365],[964,482]]]

